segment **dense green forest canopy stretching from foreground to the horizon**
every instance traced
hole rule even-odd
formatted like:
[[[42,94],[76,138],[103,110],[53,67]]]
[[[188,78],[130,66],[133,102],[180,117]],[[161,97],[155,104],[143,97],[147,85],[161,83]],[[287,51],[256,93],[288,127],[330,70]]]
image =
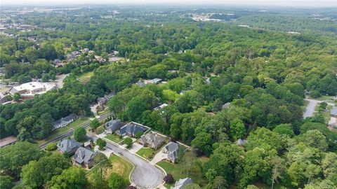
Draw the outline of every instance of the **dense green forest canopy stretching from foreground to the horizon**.
[[[91,116],[91,104],[114,92],[107,106],[117,118],[147,125],[207,158],[197,165],[208,183],[204,188],[252,189],[256,183],[336,188],[337,133],[322,116],[303,119],[305,91],[312,98],[337,94],[336,20],[310,20],[305,10],[298,20],[281,13],[249,18],[235,10],[235,23],[196,22],[185,9],[86,10],[15,15],[15,22],[34,29],[8,29],[14,37],[0,36],[6,83],[70,73],[58,90],[0,105],[1,138],[13,135],[20,141],[0,149],[1,180],[8,186],[23,178],[25,186],[13,187],[97,188],[99,183],[87,184],[85,173],[70,167],[65,157],[39,151],[34,141],[48,137],[55,120],[72,113]],[[237,26],[245,22],[268,27]],[[271,22],[286,24],[276,28]],[[289,27],[300,34],[284,32]],[[94,55],[84,52],[53,66],[55,59],[84,48]],[[114,51],[126,61],[95,59],[108,59]],[[93,75],[87,82],[78,80],[88,72]],[[154,78],[164,82],[136,84]],[[164,103],[169,105],[154,110]],[[247,142],[238,146],[239,139]],[[67,175],[82,180],[71,186]],[[62,182],[68,186],[58,186]]]

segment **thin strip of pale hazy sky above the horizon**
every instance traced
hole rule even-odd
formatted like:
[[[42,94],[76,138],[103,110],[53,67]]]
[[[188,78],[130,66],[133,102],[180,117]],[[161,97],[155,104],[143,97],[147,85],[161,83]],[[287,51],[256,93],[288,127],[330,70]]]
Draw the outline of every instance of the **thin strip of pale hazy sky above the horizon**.
[[[337,0],[0,0],[2,5],[77,5],[77,4],[170,4],[170,5],[239,5],[337,7]]]

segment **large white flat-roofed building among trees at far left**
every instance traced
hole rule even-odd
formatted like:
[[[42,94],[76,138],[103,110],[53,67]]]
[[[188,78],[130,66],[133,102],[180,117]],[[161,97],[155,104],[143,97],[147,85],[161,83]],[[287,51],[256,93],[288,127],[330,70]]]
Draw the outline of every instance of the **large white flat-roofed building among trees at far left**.
[[[49,90],[55,90],[55,83],[41,83],[37,81],[22,83],[21,85],[12,87],[9,93],[14,95],[18,92],[22,99],[32,99],[35,94],[44,94]]]

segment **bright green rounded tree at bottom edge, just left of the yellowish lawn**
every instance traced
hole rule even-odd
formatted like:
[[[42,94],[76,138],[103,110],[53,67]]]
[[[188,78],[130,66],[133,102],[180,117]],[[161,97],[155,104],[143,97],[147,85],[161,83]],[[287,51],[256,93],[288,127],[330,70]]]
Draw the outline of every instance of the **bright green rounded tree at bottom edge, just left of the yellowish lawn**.
[[[62,174],[53,176],[48,182],[47,188],[59,189],[81,189],[86,188],[88,179],[86,179],[86,172],[84,169],[78,167],[70,167],[62,171]]]

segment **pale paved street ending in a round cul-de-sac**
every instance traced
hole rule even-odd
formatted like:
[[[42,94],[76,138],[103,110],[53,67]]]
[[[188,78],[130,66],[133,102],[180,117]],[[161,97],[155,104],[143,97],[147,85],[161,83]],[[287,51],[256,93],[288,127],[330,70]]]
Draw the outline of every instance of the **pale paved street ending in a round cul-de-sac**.
[[[131,174],[132,183],[140,188],[157,188],[164,179],[164,174],[160,169],[154,167],[149,162],[139,158],[137,155],[126,151],[119,146],[107,141],[107,148],[110,148],[114,153],[124,156],[124,158],[133,162],[136,168]]]

